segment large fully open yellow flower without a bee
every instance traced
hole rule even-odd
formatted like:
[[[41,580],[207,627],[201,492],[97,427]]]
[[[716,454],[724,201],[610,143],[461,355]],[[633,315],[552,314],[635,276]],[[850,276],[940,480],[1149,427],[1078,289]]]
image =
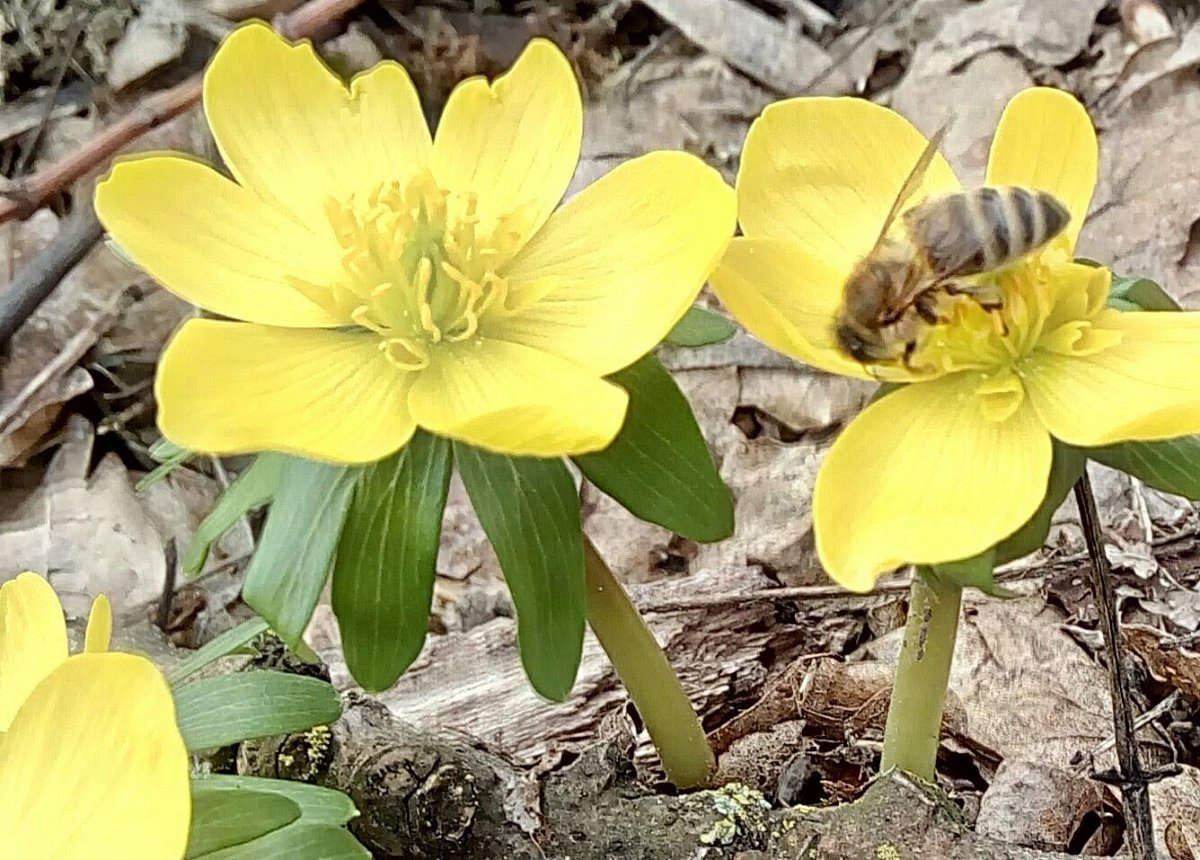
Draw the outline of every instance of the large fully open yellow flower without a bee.
[[[260,23],[217,50],[204,110],[235,181],[158,154],[96,192],[139,265],[235,320],[191,320],[162,356],[160,427],[193,450],[359,463],[416,427],[503,453],[604,449],[628,403],[604,377],[671,330],[733,234],[733,190],[683,152],[556,211],[583,108],[544,40],[455,89],[436,140],[401,66],[347,86]]]

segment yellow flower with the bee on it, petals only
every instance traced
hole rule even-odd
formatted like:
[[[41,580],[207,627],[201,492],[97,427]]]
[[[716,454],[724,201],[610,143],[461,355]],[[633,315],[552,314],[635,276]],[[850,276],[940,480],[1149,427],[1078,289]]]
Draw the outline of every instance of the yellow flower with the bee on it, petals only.
[[[1045,495],[1051,437],[1096,446],[1200,431],[1200,314],[1106,309],[1110,273],[1072,259],[1096,184],[1096,134],[1074,98],[1049,89],[1008,104],[986,182],[1046,191],[1072,219],[994,277],[1003,324],[960,296],[911,368],[863,367],[838,349],[846,276],[925,144],[865,101],[767,108],[738,175],[745,235],[713,275],[730,311],[773,348],[834,373],[908,383],[846,427],[816,482],[822,564],[859,591],[883,571],[970,558],[1020,528]],[[937,155],[912,203],[959,187]]]

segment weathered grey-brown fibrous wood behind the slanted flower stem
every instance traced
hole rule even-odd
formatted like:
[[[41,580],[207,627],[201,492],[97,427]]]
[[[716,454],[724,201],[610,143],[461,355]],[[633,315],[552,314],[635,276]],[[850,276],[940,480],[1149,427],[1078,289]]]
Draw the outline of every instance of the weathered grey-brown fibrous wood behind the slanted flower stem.
[[[640,607],[704,596],[713,600],[690,609],[646,612],[647,623],[706,729],[721,726],[752,705],[768,680],[796,658],[850,650],[850,643],[863,635],[868,608],[889,600],[888,595],[803,603],[743,599],[746,591],[770,585],[762,573],[748,572],[731,584],[718,571],[701,571],[630,588]],[[330,667],[334,685],[353,688],[336,626],[325,607],[318,608],[310,636],[317,654]],[[421,657],[377,698],[412,724],[448,727],[485,738],[528,765],[564,746],[595,740],[605,717],[628,700],[590,633],[570,698],[551,704],[536,696],[521,668],[515,624],[508,618],[467,632],[431,637]],[[638,768],[656,768],[649,740],[643,735],[640,741]]]

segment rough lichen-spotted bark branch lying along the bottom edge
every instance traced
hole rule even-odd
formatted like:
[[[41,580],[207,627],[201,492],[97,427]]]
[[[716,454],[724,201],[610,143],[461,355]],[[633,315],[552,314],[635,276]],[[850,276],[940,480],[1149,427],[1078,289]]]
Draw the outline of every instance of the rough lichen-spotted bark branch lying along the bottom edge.
[[[376,856],[445,860],[1066,860],[977,837],[954,802],[907,778],[857,804],[773,810],[737,783],[672,796],[636,781],[630,745],[606,741],[542,771],[427,735],[350,694],[329,729],[242,746],[239,770],[347,792]]]

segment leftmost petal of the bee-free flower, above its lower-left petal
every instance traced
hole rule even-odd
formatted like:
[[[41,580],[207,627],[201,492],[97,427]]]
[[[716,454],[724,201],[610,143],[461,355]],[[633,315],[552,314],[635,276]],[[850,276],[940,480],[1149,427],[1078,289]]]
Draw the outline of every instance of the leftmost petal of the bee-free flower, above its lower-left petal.
[[[138,265],[175,295],[253,323],[337,325],[287,284],[318,283],[340,251],[211,167],[184,156],[127,158],[96,188],[96,214]]]

